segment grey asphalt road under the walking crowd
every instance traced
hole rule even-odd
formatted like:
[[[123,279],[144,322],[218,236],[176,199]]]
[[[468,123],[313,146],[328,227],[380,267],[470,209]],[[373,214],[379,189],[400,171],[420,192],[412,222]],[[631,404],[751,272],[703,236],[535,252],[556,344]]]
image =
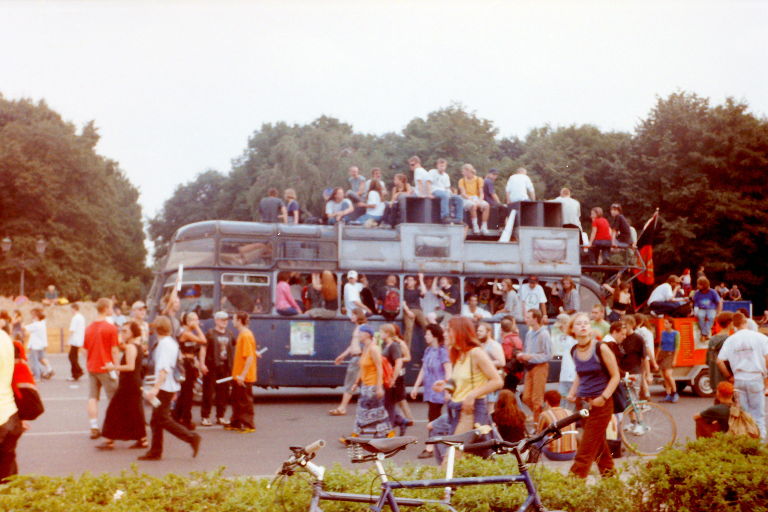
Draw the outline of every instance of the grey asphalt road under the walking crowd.
[[[40,384],[46,405],[46,412],[32,422],[31,429],[19,441],[19,470],[24,474],[64,476],[91,473],[119,473],[136,464],[140,471],[152,475],[167,473],[188,473],[210,471],[225,467],[227,475],[267,475],[274,472],[290,452],[288,446],[303,445],[316,439],[327,442],[318,455],[320,464],[330,466],[339,463],[356,467],[348,461],[346,449],[337,441],[339,436],[351,431],[354,421],[354,406],[347,416],[333,417],[328,410],[334,407],[340,397],[336,389],[284,388],[262,390],[256,395],[256,432],[238,434],[224,431],[221,427],[198,427],[203,436],[200,454],[193,459],[189,446],[166,433],[163,460],[139,462],[136,457],[142,450],[130,450],[127,442],[118,442],[111,452],[95,448],[100,441],[88,437],[86,379],[78,383],[67,382],[69,362],[65,355],[50,357],[56,375],[50,381]],[[654,400],[663,395],[661,388],[655,388]],[[685,394],[677,404],[667,405],[678,423],[678,440],[694,436],[691,417],[711,403],[711,399]],[[102,399],[101,414],[106,410]],[[412,402],[416,418],[426,418],[426,407]],[[147,419],[150,411],[147,407]],[[194,418],[199,420],[199,408],[195,407]],[[409,434],[420,440],[425,436],[426,421],[417,421]],[[398,463],[424,462],[417,459],[422,446],[416,445],[397,455]],[[428,461],[430,462],[430,461]],[[567,463],[551,463],[554,467],[567,468]]]

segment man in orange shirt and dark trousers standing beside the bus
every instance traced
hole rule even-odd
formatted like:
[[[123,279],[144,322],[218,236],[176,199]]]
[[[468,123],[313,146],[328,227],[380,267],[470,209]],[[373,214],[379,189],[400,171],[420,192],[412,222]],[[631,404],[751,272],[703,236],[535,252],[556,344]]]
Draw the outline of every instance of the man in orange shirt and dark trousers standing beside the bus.
[[[226,430],[236,430],[243,434],[256,431],[253,420],[253,385],[256,383],[256,338],[248,328],[248,313],[238,311],[234,318],[237,329],[235,356],[232,361],[232,416]]]

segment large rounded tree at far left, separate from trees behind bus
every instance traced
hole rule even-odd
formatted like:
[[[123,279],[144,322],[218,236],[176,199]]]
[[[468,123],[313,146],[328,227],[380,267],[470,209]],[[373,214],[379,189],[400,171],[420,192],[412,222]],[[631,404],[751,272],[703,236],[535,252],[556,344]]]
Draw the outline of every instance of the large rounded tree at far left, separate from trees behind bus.
[[[78,134],[48,106],[0,96],[0,220],[13,239],[0,261],[0,293],[18,293],[27,260],[27,294],[54,283],[64,296],[138,298],[149,278],[139,193],[117,163],[95,152],[93,123]],[[43,258],[34,242],[48,241]]]

